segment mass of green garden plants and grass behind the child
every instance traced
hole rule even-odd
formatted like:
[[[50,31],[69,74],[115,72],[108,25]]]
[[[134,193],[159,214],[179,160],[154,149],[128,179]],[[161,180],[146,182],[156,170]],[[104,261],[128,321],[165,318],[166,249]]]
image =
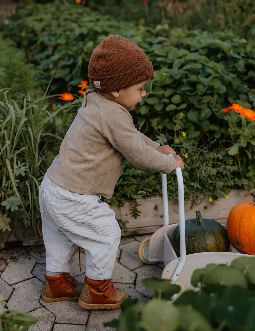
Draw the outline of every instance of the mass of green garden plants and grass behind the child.
[[[188,3],[183,2],[183,8]],[[236,1],[231,2],[234,4]],[[160,10],[164,5],[162,1]],[[179,12],[180,3],[175,5],[176,18],[186,13]],[[205,1],[200,5],[206,8]],[[112,34],[137,43],[153,62],[155,76],[146,86],[147,97],[131,114],[138,129],[160,144],[170,144],[185,159],[185,198],[195,203],[200,201],[198,197],[217,199],[231,189],[253,188],[254,123],[243,123],[237,114],[222,112],[233,102],[245,108],[255,105],[252,37],[240,37],[241,30],[172,28],[173,21],[151,27],[140,19],[127,22],[103,15],[107,6],[105,11],[100,9],[102,14],[92,11],[91,3],[84,6],[61,1],[26,5],[8,18],[8,24],[1,25],[2,35],[12,39],[4,40],[1,51],[13,62],[12,66],[4,65],[0,74],[4,72],[4,86],[19,93],[13,96],[11,89],[0,92],[0,229],[14,226],[6,218],[9,216],[23,219],[40,232],[38,185],[82,102],[75,96],[75,101],[59,105],[57,95],[50,99],[46,95],[77,94],[77,85],[87,79],[92,50]],[[149,15],[151,6],[149,1],[147,9],[141,8]],[[242,13],[250,20],[247,8]],[[173,14],[169,11],[167,15]],[[12,70],[16,64],[20,69]],[[38,84],[45,88],[49,82],[45,95],[36,95],[41,94]],[[177,199],[174,173],[168,175],[168,183],[169,198]],[[115,194],[107,202],[123,204],[159,195],[159,174],[127,162]],[[135,206],[132,214],[136,217],[139,206]]]

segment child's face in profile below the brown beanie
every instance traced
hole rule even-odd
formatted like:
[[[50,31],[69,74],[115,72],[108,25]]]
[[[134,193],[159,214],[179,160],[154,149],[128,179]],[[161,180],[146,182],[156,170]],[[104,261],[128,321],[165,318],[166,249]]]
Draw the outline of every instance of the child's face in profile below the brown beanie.
[[[144,80],[135,85],[121,88],[119,91],[97,91],[97,93],[106,96],[109,100],[118,103],[119,105],[125,107],[127,110],[132,110],[139,102],[142,101],[142,98],[146,96],[144,88],[148,81],[149,79]]]

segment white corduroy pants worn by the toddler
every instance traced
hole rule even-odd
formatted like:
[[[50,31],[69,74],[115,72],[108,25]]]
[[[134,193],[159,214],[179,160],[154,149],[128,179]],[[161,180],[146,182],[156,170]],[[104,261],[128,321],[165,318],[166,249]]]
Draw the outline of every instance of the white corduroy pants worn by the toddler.
[[[121,230],[115,213],[99,195],[80,195],[45,174],[39,187],[46,270],[70,272],[78,247],[86,251],[86,276],[111,278]]]

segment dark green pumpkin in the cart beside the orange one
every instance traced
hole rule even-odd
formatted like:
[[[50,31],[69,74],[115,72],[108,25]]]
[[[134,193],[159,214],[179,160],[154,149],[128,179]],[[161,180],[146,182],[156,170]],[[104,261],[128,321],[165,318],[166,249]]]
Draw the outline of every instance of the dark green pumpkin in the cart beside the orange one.
[[[213,219],[197,217],[185,221],[186,254],[201,252],[229,252],[230,241],[226,229]],[[179,225],[174,229],[172,246],[177,257],[180,256]]]

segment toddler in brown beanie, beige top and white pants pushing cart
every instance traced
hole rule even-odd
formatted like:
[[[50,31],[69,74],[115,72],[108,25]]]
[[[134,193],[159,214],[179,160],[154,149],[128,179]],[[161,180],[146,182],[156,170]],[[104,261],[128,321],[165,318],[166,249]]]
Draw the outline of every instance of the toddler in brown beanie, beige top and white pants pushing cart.
[[[45,302],[117,308],[127,297],[110,280],[121,231],[101,196],[111,198],[126,159],[165,174],[184,167],[170,146],[160,147],[139,132],[129,114],[146,96],[144,88],[151,77],[152,63],[125,38],[105,38],[92,53],[93,90],[84,94],[83,105],[39,187]],[[77,284],[69,274],[78,247],[86,250],[84,284]]]

